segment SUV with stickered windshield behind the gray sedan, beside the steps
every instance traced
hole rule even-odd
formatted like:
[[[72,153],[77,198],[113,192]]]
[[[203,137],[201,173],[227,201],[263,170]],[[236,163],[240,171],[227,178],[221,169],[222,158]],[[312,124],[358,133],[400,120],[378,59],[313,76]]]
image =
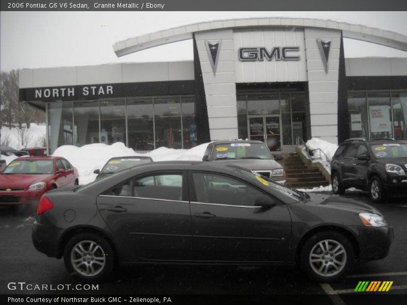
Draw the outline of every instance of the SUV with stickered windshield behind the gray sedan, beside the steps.
[[[282,155],[274,157],[264,142],[229,140],[210,143],[202,161],[228,160],[285,186],[284,168],[276,161],[282,158]]]

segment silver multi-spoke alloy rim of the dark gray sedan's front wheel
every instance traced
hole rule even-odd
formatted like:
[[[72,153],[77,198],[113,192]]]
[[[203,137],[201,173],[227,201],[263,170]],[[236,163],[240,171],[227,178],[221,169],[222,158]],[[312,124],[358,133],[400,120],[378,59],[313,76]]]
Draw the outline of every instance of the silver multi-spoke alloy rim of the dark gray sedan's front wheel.
[[[346,259],[343,245],[332,239],[318,241],[309,254],[312,270],[322,277],[337,275],[345,267]]]

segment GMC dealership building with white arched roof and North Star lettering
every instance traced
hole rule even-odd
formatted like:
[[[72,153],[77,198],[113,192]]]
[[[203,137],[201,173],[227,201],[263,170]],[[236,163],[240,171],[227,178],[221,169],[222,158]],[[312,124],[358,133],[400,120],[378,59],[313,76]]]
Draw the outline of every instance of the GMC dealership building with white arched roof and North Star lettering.
[[[317,19],[197,23],[113,45],[117,56],[192,39],[193,61],[23,69],[20,101],[46,111],[50,153],[211,140],[289,152],[311,137],[407,139],[407,58],[345,58],[343,38],[407,51],[407,37]]]

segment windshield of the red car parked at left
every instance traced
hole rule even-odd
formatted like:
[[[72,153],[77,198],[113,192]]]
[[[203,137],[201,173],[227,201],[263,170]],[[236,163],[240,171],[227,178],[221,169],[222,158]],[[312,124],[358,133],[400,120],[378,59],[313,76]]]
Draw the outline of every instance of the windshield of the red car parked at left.
[[[3,174],[52,174],[52,160],[16,160],[4,169]]]

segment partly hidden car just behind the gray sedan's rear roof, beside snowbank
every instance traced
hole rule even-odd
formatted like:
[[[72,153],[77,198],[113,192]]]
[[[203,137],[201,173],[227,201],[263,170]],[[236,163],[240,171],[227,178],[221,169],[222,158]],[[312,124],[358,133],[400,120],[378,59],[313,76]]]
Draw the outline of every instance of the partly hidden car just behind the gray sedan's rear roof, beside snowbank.
[[[133,166],[139,166],[141,164],[146,164],[153,162],[151,157],[146,156],[127,156],[127,157],[114,157],[110,158],[109,161],[103,166],[102,170],[95,169],[94,173],[98,174],[96,180],[104,179],[109,177],[111,174],[115,174],[122,170],[131,168]]]

